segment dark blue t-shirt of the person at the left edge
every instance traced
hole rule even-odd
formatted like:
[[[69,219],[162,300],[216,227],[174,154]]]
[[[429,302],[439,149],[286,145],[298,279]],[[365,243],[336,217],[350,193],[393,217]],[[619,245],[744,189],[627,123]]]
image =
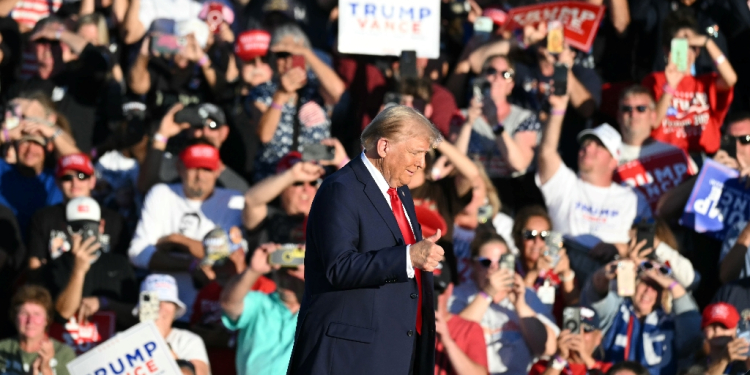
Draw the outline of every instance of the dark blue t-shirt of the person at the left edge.
[[[57,188],[52,170],[45,169],[37,176],[24,176],[14,165],[0,159],[0,203],[13,210],[24,237],[36,210],[62,201],[63,195]]]

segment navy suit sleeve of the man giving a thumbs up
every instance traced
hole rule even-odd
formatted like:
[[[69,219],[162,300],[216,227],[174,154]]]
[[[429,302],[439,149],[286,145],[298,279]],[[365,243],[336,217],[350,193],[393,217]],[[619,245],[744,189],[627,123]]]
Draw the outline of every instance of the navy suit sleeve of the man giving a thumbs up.
[[[351,191],[338,182],[321,188],[308,222],[308,235],[325,270],[326,279],[337,289],[366,288],[386,280],[406,282],[406,245],[384,249],[359,249],[359,207]],[[309,249],[309,248],[308,248]]]

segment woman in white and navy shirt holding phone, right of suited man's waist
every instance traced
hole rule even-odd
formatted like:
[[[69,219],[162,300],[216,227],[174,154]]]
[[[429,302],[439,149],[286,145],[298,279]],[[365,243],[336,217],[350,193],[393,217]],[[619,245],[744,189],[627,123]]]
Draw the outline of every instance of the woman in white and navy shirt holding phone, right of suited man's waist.
[[[526,373],[533,357],[555,352],[560,330],[550,308],[512,266],[501,266],[501,258],[509,254],[502,236],[477,233],[471,254],[471,279],[454,289],[448,310],[482,326],[490,373]]]

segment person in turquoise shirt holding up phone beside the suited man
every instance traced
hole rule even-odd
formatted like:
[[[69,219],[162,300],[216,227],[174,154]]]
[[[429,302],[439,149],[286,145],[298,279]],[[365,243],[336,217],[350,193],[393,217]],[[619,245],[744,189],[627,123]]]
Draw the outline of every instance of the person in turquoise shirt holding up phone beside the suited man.
[[[297,317],[305,290],[304,268],[276,269],[268,264],[269,254],[279,246],[265,244],[255,249],[247,269],[232,278],[221,295],[224,326],[239,331],[237,374],[286,374],[294,345]],[[277,291],[250,291],[272,272]]]

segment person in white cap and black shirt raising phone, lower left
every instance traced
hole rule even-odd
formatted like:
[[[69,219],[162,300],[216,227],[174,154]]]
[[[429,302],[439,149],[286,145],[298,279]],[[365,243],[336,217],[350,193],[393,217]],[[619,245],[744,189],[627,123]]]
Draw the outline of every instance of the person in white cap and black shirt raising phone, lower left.
[[[102,222],[95,200],[74,198],[65,211],[73,233],[71,249],[49,263],[44,277],[56,299],[57,315],[67,322],[62,329],[53,325],[54,332],[80,354],[114,335],[115,318],[118,331],[136,323],[132,312],[138,301],[138,283],[124,254],[105,251],[103,234],[87,233],[90,228],[98,231]],[[111,313],[101,313],[105,311]],[[91,332],[86,326],[92,324],[97,334],[85,336]]]

